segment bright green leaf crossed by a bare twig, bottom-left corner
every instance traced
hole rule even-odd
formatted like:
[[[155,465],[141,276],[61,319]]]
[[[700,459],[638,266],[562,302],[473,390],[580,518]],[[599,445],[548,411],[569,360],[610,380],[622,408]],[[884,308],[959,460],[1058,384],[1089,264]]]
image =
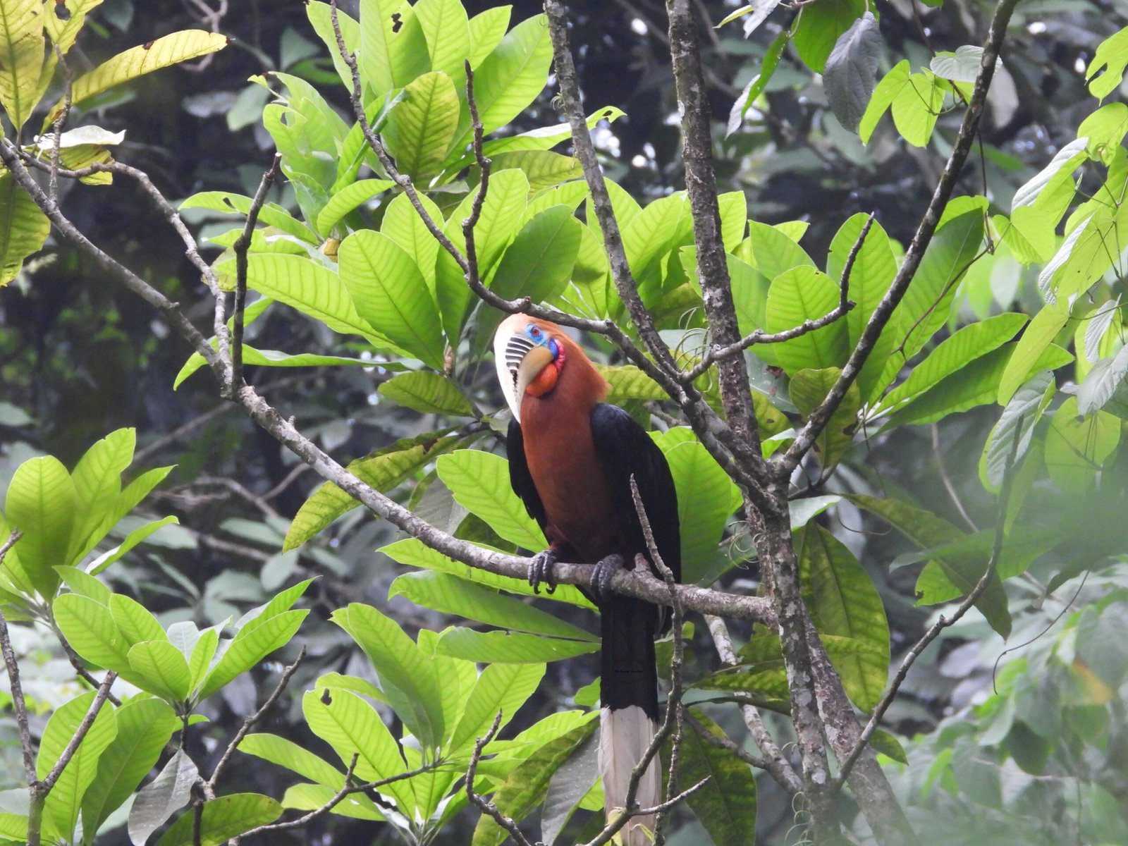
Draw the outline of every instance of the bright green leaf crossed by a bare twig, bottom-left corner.
[[[45,778],[51,768],[62,757],[71,739],[78,732],[94,703],[91,690],[62,705],[47,721],[39,741],[39,754],[35,760],[35,774]],[[90,724],[82,742],[78,744],[70,763],[63,768],[59,781],[47,794],[43,805],[44,828],[54,831],[64,840],[70,840],[74,832],[74,823],[82,807],[82,796],[94,783],[98,774],[98,759],[117,734],[117,721],[114,708],[104,703],[98,715]]]

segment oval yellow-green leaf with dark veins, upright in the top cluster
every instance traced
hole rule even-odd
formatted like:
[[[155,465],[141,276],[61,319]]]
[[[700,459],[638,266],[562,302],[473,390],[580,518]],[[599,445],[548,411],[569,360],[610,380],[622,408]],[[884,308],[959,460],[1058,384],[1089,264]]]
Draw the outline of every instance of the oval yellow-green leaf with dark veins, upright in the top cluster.
[[[453,6],[461,10],[458,0],[453,0]],[[435,71],[414,80],[404,88],[404,102],[388,120],[385,139],[399,171],[417,185],[426,185],[442,170],[447,149],[458,129],[458,94],[450,76]]]

